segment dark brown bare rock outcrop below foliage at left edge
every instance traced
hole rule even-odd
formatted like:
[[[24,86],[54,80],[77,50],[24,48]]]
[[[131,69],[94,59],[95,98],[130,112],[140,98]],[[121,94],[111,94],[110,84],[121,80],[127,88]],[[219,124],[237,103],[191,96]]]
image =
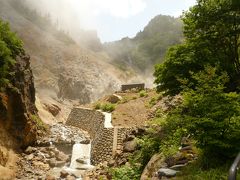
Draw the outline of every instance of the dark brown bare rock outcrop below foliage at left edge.
[[[30,57],[17,57],[9,87],[0,93],[0,124],[17,147],[33,144],[42,133],[35,106],[35,89]],[[4,142],[4,139],[1,139]],[[3,146],[5,144],[2,144]]]

